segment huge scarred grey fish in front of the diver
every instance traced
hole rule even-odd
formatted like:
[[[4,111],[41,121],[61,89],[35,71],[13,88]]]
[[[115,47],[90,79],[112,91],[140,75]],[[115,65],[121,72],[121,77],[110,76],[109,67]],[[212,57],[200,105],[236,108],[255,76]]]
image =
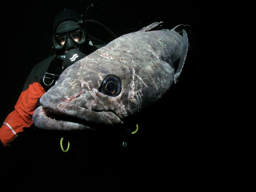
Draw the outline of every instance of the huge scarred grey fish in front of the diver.
[[[46,130],[119,126],[159,100],[177,82],[188,37],[155,22],[120,36],[68,67],[33,115]]]

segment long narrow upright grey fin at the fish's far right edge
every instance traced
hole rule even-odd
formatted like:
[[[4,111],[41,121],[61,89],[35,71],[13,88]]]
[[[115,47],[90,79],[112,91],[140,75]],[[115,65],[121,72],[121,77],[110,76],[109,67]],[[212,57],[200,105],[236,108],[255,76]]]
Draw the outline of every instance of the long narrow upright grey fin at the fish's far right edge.
[[[180,62],[179,62],[177,71],[174,74],[174,83],[178,82],[178,78],[180,76],[180,73],[182,71],[182,68],[184,66],[184,63],[185,63],[185,60],[187,57],[187,53],[188,53],[188,36],[184,29],[182,30],[182,34],[183,34],[183,40],[182,40],[183,46],[182,46],[182,51],[181,51],[181,56],[180,56]]]

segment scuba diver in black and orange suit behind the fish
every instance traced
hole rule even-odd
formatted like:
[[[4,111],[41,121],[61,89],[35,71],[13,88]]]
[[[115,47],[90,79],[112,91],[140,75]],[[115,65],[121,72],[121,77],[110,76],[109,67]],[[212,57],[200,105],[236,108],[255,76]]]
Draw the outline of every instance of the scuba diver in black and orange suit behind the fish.
[[[39,99],[55,84],[60,74],[100,47],[93,45],[82,24],[81,15],[71,9],[64,9],[55,17],[53,54],[31,70],[15,109],[6,117],[0,128],[1,147],[10,146],[24,128],[33,124],[32,116],[39,105]]]

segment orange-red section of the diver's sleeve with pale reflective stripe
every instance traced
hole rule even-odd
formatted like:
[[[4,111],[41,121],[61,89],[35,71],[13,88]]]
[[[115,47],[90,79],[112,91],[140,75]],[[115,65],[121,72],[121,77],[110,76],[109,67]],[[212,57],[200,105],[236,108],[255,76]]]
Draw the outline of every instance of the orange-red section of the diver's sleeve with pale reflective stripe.
[[[29,84],[28,89],[21,92],[20,97],[12,111],[0,128],[0,140],[4,146],[9,144],[23,131],[23,128],[33,124],[32,116],[38,107],[38,100],[44,94],[40,83]]]

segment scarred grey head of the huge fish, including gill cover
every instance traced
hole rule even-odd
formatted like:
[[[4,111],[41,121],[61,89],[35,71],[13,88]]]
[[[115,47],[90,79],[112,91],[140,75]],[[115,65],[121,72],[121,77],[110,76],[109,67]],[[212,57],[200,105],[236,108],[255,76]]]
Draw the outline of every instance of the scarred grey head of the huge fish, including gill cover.
[[[158,100],[172,83],[172,68],[131,54],[103,47],[68,67],[41,97],[34,124],[57,130],[120,125]]]

